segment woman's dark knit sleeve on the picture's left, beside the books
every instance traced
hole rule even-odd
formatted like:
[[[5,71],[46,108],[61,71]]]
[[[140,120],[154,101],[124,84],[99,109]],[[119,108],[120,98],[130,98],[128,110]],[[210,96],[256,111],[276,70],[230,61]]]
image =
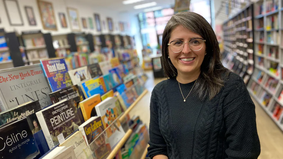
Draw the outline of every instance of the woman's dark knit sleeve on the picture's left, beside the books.
[[[153,158],[155,155],[166,155],[167,156],[167,145],[160,132],[159,128],[159,116],[158,116],[158,87],[162,83],[156,85],[152,91],[150,101],[150,123],[149,123],[149,148],[148,155]]]

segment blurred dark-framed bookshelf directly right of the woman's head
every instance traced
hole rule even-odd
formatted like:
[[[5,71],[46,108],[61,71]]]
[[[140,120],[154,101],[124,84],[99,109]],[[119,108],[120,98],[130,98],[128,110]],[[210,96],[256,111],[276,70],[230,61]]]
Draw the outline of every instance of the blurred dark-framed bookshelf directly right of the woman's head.
[[[224,67],[240,75],[247,84],[254,71],[254,6],[244,7],[223,23]]]

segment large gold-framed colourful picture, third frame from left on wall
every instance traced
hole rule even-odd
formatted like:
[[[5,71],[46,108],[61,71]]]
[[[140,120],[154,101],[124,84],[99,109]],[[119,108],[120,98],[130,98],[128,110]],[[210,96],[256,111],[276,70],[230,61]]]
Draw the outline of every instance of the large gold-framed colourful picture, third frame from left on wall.
[[[38,5],[38,10],[40,12],[40,18],[43,29],[57,30],[57,24],[56,24],[52,3],[47,1],[37,0],[37,5]]]

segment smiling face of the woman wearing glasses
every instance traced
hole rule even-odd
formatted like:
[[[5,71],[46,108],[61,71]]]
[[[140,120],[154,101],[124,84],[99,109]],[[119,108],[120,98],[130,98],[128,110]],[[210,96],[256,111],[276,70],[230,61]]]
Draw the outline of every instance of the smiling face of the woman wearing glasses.
[[[203,63],[205,56],[205,42],[203,42],[203,47],[198,51],[193,51],[190,49],[189,41],[194,38],[202,38],[199,34],[193,33],[190,30],[184,28],[183,26],[176,27],[172,32],[169,42],[180,40],[184,43],[184,48],[181,52],[172,52],[170,46],[168,46],[169,57],[172,64],[178,71],[182,73],[195,73],[200,71],[200,66]],[[205,39],[204,39],[205,40]],[[171,43],[172,44],[172,43]],[[166,44],[167,45],[167,44]]]

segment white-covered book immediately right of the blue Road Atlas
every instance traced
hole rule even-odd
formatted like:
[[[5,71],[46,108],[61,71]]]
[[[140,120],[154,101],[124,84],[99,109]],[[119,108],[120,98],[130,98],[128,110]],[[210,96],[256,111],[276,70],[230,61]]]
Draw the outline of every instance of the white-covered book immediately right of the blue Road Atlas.
[[[78,85],[81,81],[91,78],[88,74],[87,66],[70,70],[68,71],[68,73],[72,80],[73,85]]]

